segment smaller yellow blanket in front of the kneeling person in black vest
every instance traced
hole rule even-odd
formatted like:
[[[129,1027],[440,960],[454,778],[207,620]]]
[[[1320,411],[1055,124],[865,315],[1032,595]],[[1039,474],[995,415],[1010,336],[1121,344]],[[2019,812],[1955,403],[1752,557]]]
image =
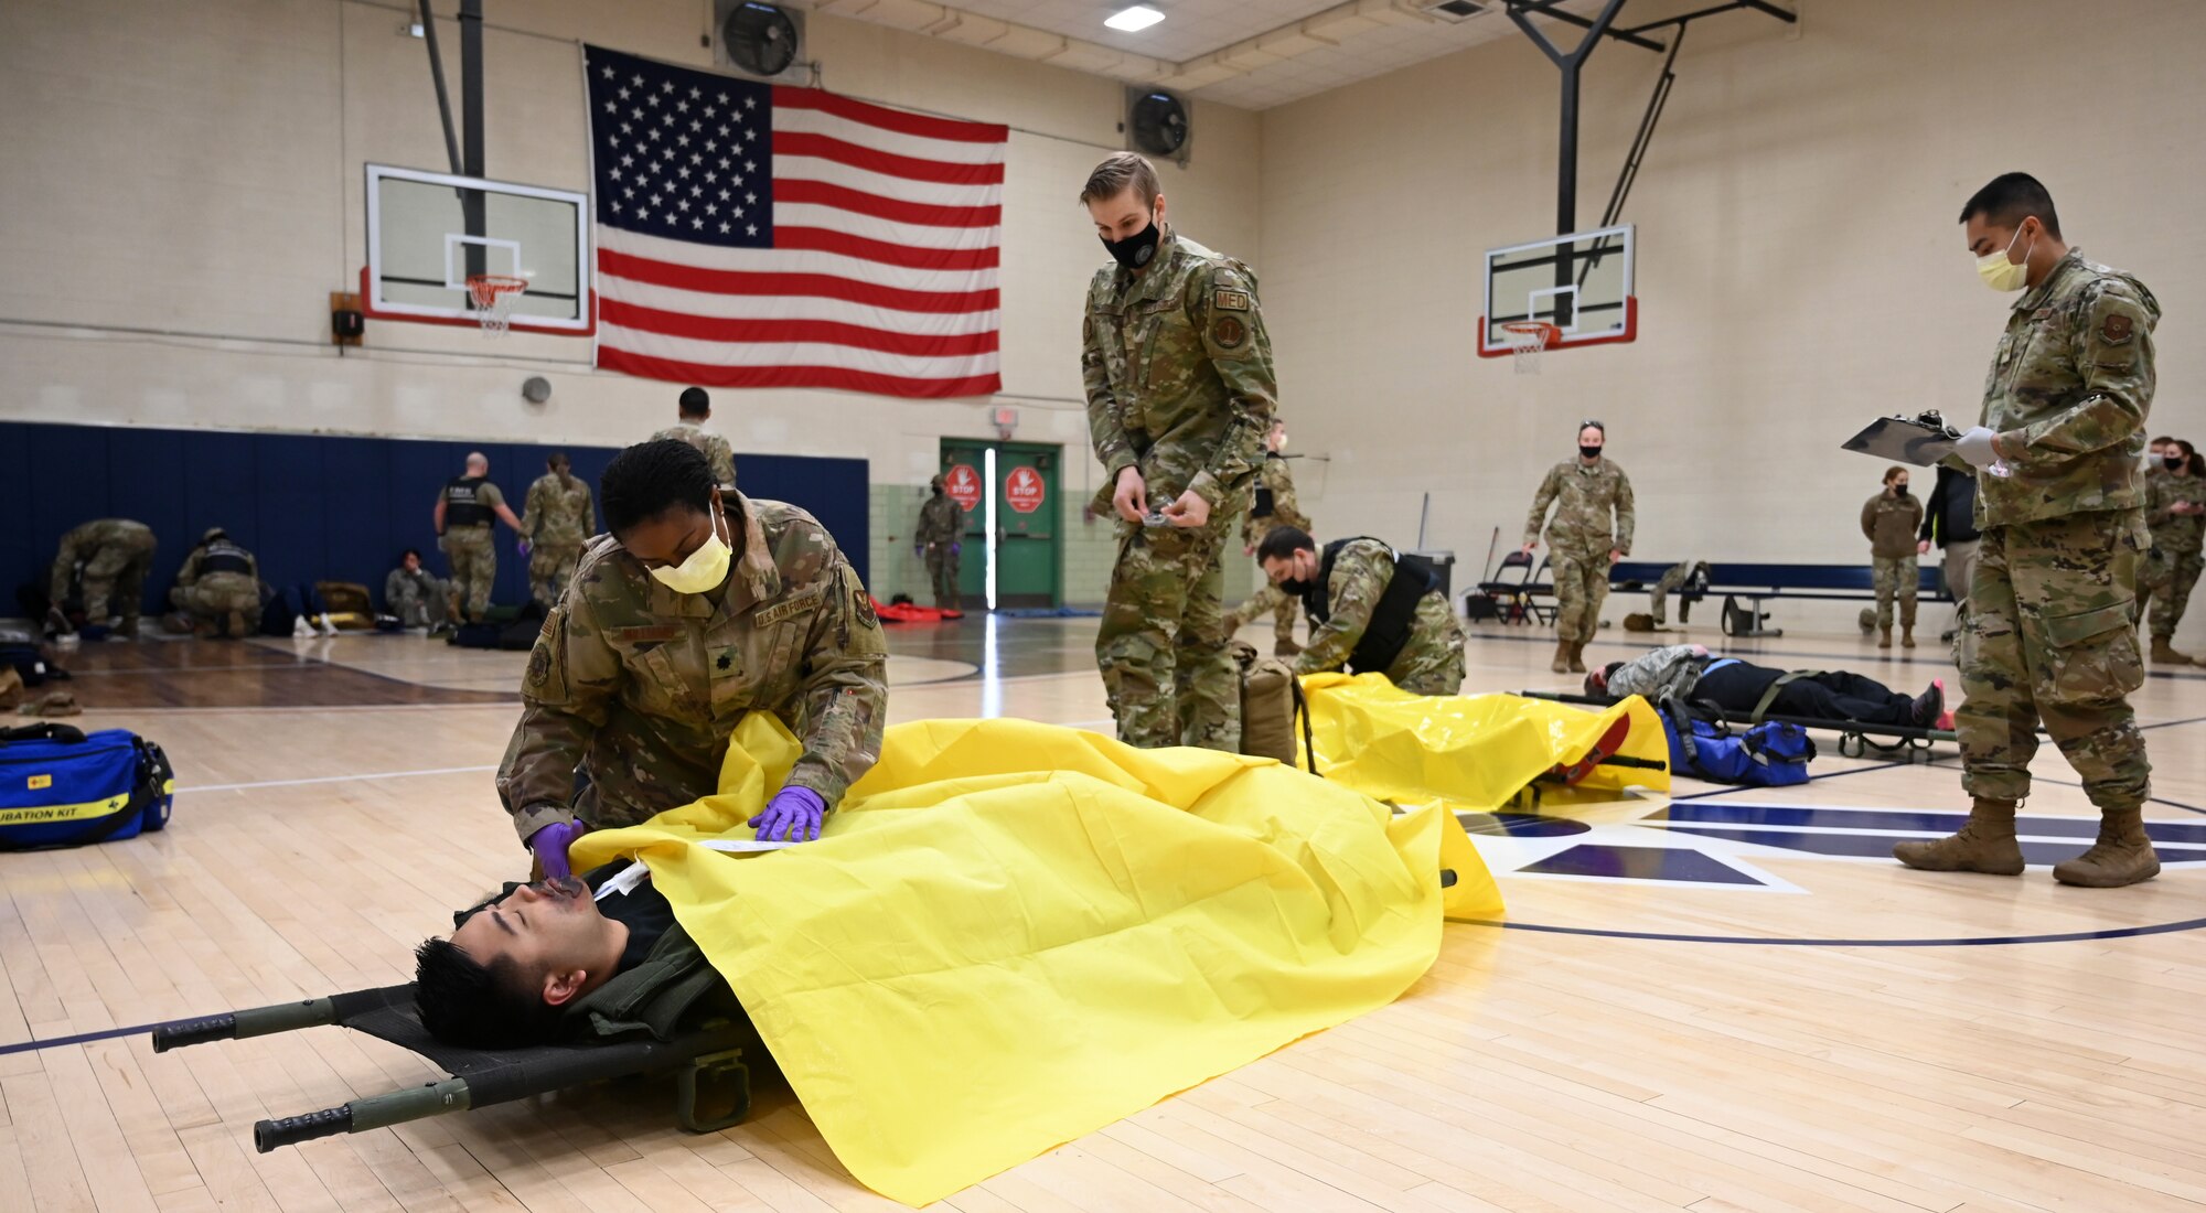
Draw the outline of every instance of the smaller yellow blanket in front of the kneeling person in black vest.
[[[1317,770],[1403,807],[1493,812],[1557,763],[1586,756],[1621,721],[1610,754],[1657,765],[1599,765],[1575,787],[1542,783],[1542,803],[1617,801],[1624,787],[1670,790],[1661,717],[1637,695],[1604,710],[1520,695],[1412,695],[1385,675],[1308,675]]]

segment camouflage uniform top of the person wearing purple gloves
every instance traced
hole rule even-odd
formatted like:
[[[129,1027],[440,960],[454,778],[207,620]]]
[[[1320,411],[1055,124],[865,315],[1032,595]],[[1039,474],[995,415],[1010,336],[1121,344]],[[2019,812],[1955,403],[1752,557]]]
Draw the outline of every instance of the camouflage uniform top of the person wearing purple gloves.
[[[666,589],[611,536],[582,554],[529,653],[499,767],[521,838],[713,794],[728,734],[754,710],[803,739],[788,781],[829,807],[880,756],[887,642],[858,573],[812,514],[726,501],[741,543],[717,604]]]

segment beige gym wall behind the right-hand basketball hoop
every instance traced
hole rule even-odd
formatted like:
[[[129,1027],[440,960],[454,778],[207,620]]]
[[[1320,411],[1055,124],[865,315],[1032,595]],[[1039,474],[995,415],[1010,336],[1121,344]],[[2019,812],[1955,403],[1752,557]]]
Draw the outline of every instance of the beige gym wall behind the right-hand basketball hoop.
[[[1866,562],[1886,465],[1838,443],[1880,412],[1977,419],[2012,296],[1977,280],[1955,216],[2007,170],[2157,293],[2151,430],[2206,439],[2206,4],[1802,7],[1798,37],[1754,13],[1692,29],[1624,212],[1641,337],[1540,377],[1471,353],[1482,249],[1555,232],[1557,71],[1522,35],[1264,112],[1264,309],[1297,446],[1332,459],[1328,534],[1410,543],[1429,490],[1427,545],[1456,549],[1463,584],[1496,525],[1502,551],[1522,540],[1540,476],[1597,417],[1639,496],[1635,556]],[[1579,227],[1659,66],[1621,44],[1586,66]]]

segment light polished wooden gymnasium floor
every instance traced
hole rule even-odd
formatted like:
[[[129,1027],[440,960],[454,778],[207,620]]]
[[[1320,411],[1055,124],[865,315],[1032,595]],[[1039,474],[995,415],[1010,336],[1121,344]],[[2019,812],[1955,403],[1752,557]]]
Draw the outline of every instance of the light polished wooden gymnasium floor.
[[[891,715],[1105,726],[1092,629],[898,631]],[[1935,642],[1765,644],[1738,653],[1906,690],[1952,679]],[[1467,690],[1557,686],[1549,653],[1546,633],[1485,626]],[[717,1136],[677,1131],[666,1089],[627,1083],[258,1156],[260,1116],[441,1074],[338,1028],[161,1056],[143,1034],[40,1048],[404,981],[415,942],[523,869],[490,790],[521,664],[415,637],[75,659],[79,723],[157,739],[183,792],[165,834],[0,856],[0,1211],[891,1206],[774,1087]],[[2151,818],[2182,858],[2151,884],[1877,858],[1966,809],[1950,752],[1827,748],[1807,787],[1482,823],[1507,928],[1449,926],[1394,1006],[942,1206],[2197,1209],[2206,670],[2155,675],[2135,704]],[[2082,849],[2071,772],[2049,745],[2036,770],[2027,814],[2049,820],[2030,831]]]

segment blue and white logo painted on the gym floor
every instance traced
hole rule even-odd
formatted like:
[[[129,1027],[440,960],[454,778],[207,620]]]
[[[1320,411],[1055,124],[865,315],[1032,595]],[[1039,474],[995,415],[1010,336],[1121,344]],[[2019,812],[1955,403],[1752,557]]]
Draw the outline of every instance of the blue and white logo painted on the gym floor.
[[[1968,814],[1924,809],[1802,807],[1741,801],[1672,801],[1628,816],[1602,805],[1591,820],[1535,814],[1458,814],[1496,876],[1652,882],[1703,889],[1802,893],[1756,867],[1756,858],[1893,862],[1893,842],[1943,838]],[[1610,820],[1615,814],[1615,820]],[[2166,867],[2206,862],[2206,823],[2146,820]],[[2021,816],[2016,834],[2032,867],[2082,854],[2098,818]]]

